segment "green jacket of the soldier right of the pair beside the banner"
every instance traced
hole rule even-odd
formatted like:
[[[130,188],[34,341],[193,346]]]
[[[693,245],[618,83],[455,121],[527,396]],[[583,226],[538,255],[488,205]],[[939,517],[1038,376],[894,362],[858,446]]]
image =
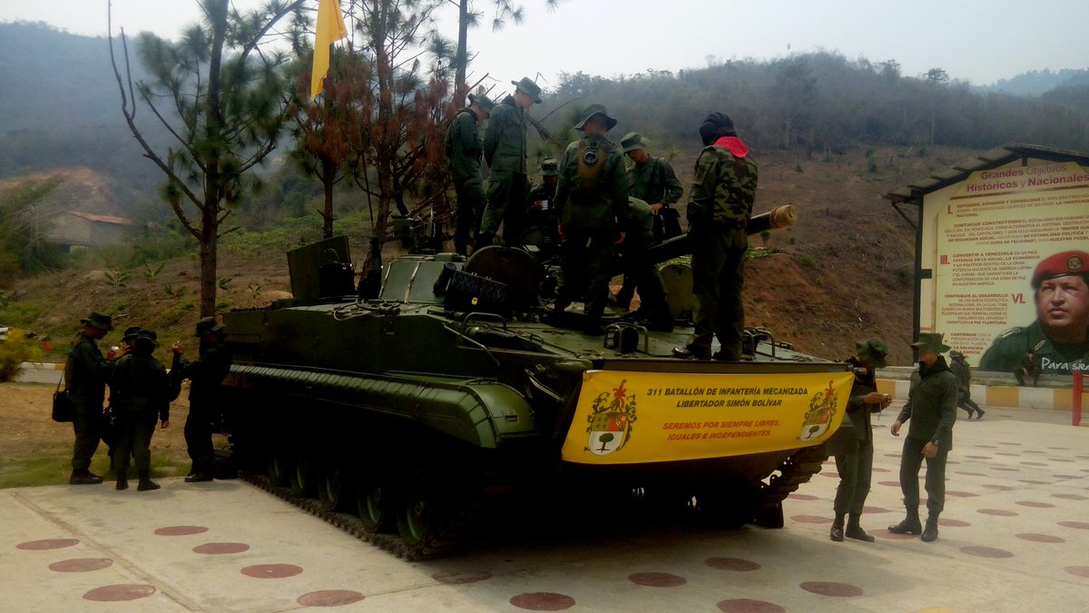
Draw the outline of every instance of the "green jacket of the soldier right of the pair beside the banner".
[[[920,365],[919,384],[907,396],[907,402],[896,416],[896,421],[908,423],[907,437],[916,441],[938,441],[942,450],[953,448],[953,424],[956,422],[956,402],[960,397],[959,384],[950,371],[945,358],[930,369]]]

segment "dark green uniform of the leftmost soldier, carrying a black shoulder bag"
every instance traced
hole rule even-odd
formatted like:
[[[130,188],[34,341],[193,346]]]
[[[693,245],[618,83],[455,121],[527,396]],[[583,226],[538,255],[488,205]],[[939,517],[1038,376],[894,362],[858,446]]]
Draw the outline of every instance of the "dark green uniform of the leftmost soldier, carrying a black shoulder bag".
[[[102,436],[102,401],[106,382],[113,371],[113,360],[107,360],[94,338],[79,333],[72,341],[64,363],[64,380],[69,396],[75,404],[72,430],[75,445],[72,449],[72,470],[85,471],[98,450]]]

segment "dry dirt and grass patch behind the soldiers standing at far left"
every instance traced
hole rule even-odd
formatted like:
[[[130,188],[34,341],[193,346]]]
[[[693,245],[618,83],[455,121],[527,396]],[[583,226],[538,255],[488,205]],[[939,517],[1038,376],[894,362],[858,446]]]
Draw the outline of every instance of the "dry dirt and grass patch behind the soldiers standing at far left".
[[[157,430],[151,438],[155,476],[188,470],[183,435],[189,410],[187,387],[170,406],[170,426]],[[22,484],[19,473],[29,470],[37,471],[33,477],[36,482],[29,484],[66,482],[74,435],[71,423],[57,423],[50,418],[54,388],[47,384],[0,383],[0,486]],[[91,470],[101,474],[108,468],[106,445],[100,445]]]

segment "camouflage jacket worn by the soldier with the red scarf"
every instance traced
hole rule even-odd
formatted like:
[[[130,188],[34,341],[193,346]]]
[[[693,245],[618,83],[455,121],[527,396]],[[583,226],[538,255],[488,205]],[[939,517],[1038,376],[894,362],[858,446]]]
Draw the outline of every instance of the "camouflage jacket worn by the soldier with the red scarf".
[[[689,228],[745,228],[756,200],[757,166],[720,145],[705,147],[696,159],[688,193]]]

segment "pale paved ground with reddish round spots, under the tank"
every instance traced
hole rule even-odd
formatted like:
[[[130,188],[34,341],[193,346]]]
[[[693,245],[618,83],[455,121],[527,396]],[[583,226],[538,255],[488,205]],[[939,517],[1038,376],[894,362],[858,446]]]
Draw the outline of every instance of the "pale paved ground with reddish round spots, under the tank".
[[[963,413],[962,413],[963,414]],[[864,526],[828,539],[835,467],[782,530],[645,514],[498,517],[474,551],[407,563],[241,481],[0,491],[0,611],[1085,611],[1089,429],[1060,411],[958,421],[934,543],[902,517],[900,440],[876,434]]]

